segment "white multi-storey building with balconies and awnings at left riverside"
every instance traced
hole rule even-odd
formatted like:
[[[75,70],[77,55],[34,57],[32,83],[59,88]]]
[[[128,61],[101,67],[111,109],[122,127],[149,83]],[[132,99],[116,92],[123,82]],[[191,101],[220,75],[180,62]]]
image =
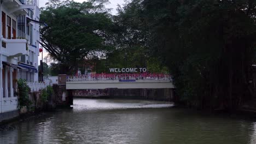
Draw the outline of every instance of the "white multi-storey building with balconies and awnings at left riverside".
[[[0,2],[0,122],[18,115],[17,80],[38,82],[38,1]]]

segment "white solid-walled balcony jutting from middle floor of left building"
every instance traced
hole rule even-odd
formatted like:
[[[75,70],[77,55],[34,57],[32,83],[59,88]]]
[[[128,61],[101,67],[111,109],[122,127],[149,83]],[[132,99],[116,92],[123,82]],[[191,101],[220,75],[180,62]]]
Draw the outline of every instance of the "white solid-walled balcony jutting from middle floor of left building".
[[[27,55],[26,39],[2,39],[2,42],[5,43],[5,51],[9,57],[19,57],[22,55]]]

